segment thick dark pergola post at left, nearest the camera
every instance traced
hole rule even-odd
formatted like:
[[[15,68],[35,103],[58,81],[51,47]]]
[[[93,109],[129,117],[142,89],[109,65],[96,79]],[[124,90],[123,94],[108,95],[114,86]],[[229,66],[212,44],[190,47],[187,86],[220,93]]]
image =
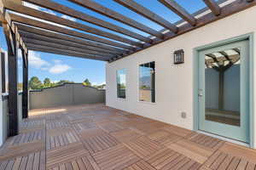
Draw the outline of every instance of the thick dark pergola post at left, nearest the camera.
[[[3,24],[4,34],[8,45],[8,77],[9,77],[9,136],[19,133],[18,116],[18,57],[15,33],[10,30],[8,24]]]

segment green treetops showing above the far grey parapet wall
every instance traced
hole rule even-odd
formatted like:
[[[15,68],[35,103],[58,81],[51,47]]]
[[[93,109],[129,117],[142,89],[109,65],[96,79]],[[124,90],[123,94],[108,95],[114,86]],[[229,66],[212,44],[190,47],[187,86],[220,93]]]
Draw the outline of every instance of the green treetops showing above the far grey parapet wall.
[[[42,88],[53,88],[55,86],[60,86],[61,84],[64,84],[64,83],[74,83],[72,81],[68,81],[68,80],[61,80],[59,82],[52,82],[50,81],[49,78],[44,78],[44,81],[41,82],[40,79],[38,77],[31,77],[31,79],[29,80],[28,82],[28,86],[30,89],[42,89]],[[92,86],[89,79],[86,78],[84,80],[84,82],[82,82],[84,86]],[[92,86],[94,88],[104,88],[105,87],[105,84],[102,84],[102,85],[94,85]]]

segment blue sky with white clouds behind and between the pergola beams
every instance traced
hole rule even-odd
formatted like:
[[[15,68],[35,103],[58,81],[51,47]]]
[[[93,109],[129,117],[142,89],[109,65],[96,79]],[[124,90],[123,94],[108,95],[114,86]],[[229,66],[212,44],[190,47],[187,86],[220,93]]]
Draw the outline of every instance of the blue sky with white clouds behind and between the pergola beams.
[[[108,22],[111,22],[117,26],[125,27],[126,29],[129,29],[130,31],[135,31],[143,36],[149,36],[147,33],[143,31],[139,31],[135,28],[132,28],[131,26],[127,26],[123,23],[120,23],[119,21],[109,19],[106,16],[103,16],[102,14],[97,14],[90,9],[83,8],[79,5],[76,5],[74,3],[70,3],[67,0],[53,0],[56,3],[61,3],[63,5],[66,5],[70,8],[74,8],[76,10],[79,10],[85,14],[90,14],[92,16],[95,16],[101,20],[106,20]],[[114,3],[113,0],[94,0],[96,3],[100,3],[103,6],[107,8],[111,8],[114,11],[124,14],[125,16],[129,16],[131,19],[137,20],[139,22],[142,22],[144,25],[149,26],[153,28],[154,30],[160,31],[163,29],[163,27],[155,24],[154,22],[144,18],[142,15],[136,14],[129,10],[128,8],[125,8],[118,3]],[[157,0],[135,0],[137,3],[143,5],[146,8],[150,8],[154,13],[160,14],[163,18],[170,22],[176,22],[180,20],[180,17],[177,16],[177,14],[172,13],[171,10],[166,8],[164,5],[159,3]],[[176,0],[177,1],[177,0]],[[146,2],[146,3],[145,3]],[[178,0],[177,3],[183,6],[186,10],[189,11],[190,14],[195,13],[197,10],[206,7],[205,3],[203,3],[202,0]],[[26,3],[26,6],[30,8],[36,8],[38,10],[42,10],[44,12],[47,12],[49,14],[55,14],[57,16],[60,16],[62,18],[65,18],[67,20],[73,20],[77,21],[81,24],[92,26],[98,29],[101,29],[102,31],[108,31],[114,34],[117,34],[122,37],[126,37],[125,35],[109,31],[108,29],[92,25],[90,23],[73,19],[72,17],[69,17],[64,14],[59,14],[54,11],[51,11],[46,8],[39,8],[38,6],[32,5],[31,3]],[[49,22],[48,22],[49,23]],[[55,24],[55,23],[50,23]],[[73,29],[68,28],[67,26],[62,26],[67,29]],[[77,31],[77,30],[75,30]],[[85,33],[85,32],[84,32]],[[90,34],[90,33],[89,33]],[[1,48],[3,48],[3,51],[7,51],[6,41],[5,37],[3,36],[3,28],[0,27],[0,38],[1,38]],[[131,37],[127,37],[132,40],[135,40]],[[19,54],[19,82],[22,82],[22,60]],[[75,58],[75,57],[68,57],[65,55],[57,55],[57,54],[47,54],[47,53],[41,53],[41,52],[35,52],[30,51],[29,52],[29,78],[31,77],[38,77],[41,81],[44,81],[45,77],[49,77],[49,79],[52,82],[57,82],[60,80],[69,80],[73,82],[84,82],[86,78],[92,82],[92,84],[102,84],[105,83],[105,62],[104,61],[97,61],[97,60],[91,60],[91,59],[81,59],[81,58]]]

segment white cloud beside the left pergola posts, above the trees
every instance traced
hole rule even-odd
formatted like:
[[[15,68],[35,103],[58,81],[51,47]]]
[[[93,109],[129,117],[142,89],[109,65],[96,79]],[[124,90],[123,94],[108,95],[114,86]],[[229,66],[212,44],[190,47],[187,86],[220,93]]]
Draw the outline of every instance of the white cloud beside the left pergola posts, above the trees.
[[[44,59],[41,59],[40,54],[34,51],[29,51],[28,54],[28,63],[34,68],[42,69],[48,67],[50,64]]]

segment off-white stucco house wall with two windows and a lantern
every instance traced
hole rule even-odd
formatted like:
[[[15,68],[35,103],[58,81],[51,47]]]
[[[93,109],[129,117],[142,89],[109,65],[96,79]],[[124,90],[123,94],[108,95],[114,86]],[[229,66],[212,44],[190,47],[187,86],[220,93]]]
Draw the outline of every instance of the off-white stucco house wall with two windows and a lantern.
[[[196,69],[193,67],[194,48],[255,32],[256,24],[253,22],[253,16],[256,16],[256,7],[248,8],[195,31],[189,31],[124,59],[106,64],[106,104],[178,127],[193,129],[195,116],[193,93],[196,88],[193,87],[193,71]],[[255,48],[255,45],[253,47]],[[173,65],[173,52],[178,49],[184,50],[185,62],[182,65]],[[256,56],[255,51],[253,56]],[[150,61],[155,61],[156,102],[154,104],[138,101],[138,65]],[[116,71],[119,69],[126,69],[126,99],[117,99]],[[255,82],[256,78],[253,77]],[[255,97],[256,90],[253,93]],[[182,118],[181,112],[186,112],[187,117]],[[256,122],[255,118],[256,116],[253,118],[254,122]],[[255,126],[253,131],[256,132]],[[254,135],[254,141],[256,141],[256,135]]]

